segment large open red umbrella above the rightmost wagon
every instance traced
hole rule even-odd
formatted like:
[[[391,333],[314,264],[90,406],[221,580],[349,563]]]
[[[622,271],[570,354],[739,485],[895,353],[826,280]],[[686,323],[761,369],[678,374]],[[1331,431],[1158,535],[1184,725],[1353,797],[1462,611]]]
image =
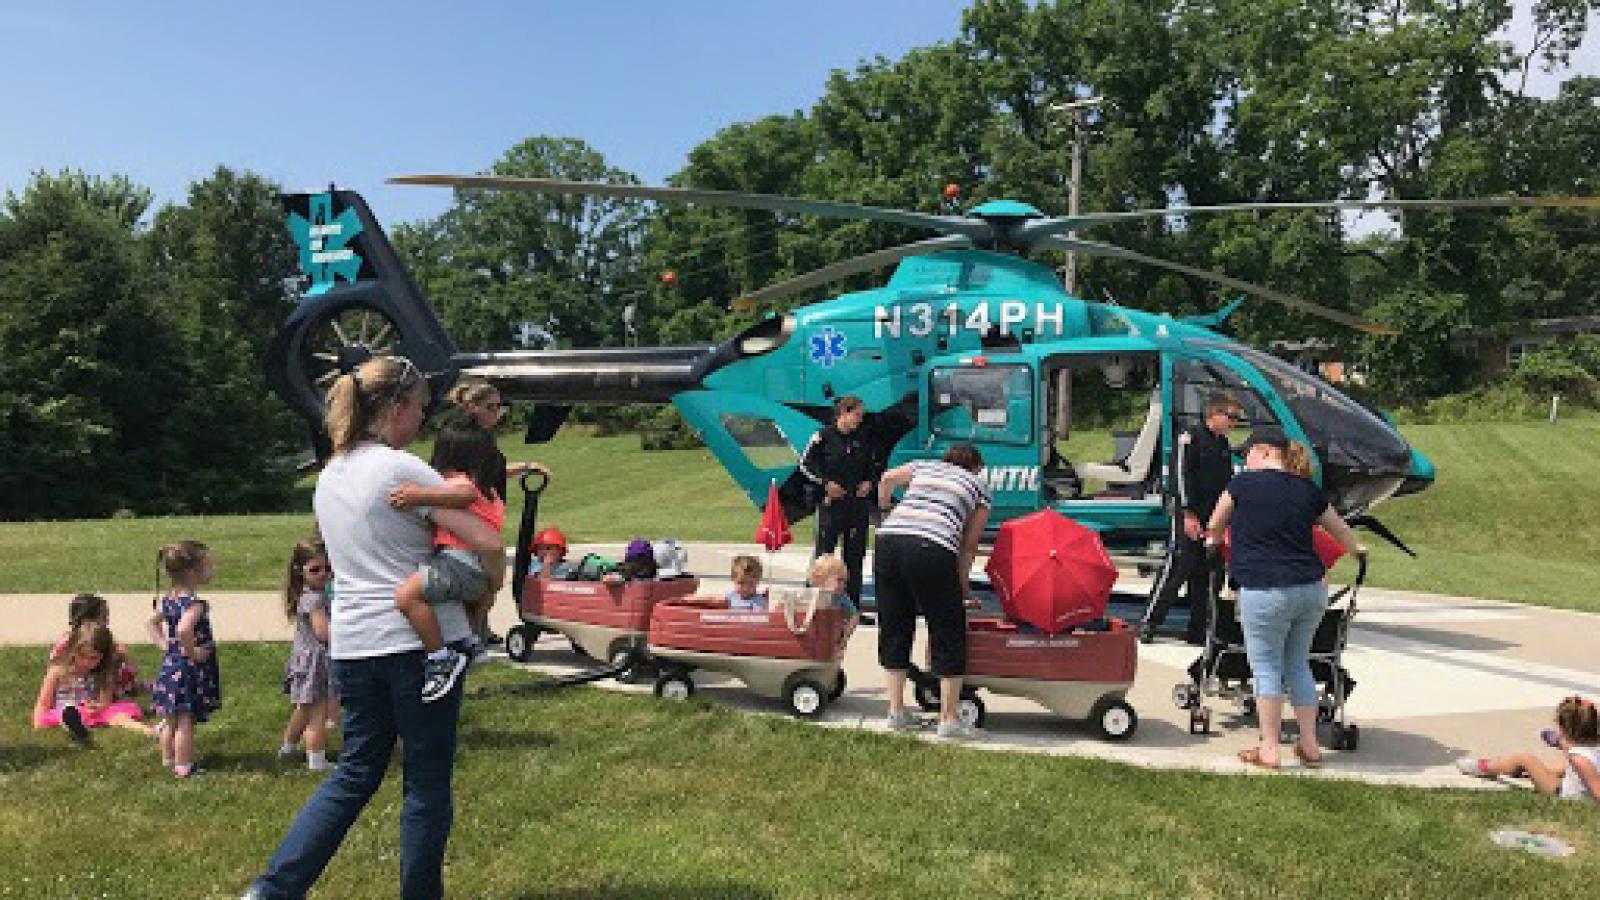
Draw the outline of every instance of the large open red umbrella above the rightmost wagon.
[[[1006,617],[1048,634],[1104,617],[1117,583],[1099,533],[1054,509],[1000,525],[986,570]]]

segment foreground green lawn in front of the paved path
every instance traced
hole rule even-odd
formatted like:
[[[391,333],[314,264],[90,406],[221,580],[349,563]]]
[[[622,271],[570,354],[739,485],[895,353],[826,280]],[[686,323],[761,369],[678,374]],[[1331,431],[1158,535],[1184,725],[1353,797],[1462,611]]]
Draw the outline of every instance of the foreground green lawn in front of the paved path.
[[[136,647],[146,668],[150,650]],[[0,897],[234,897],[317,785],[274,762],[282,644],[224,645],[205,775],[150,741],[27,727],[0,650]],[[469,689],[525,684],[493,665]],[[395,765],[398,769],[398,764]],[[398,770],[318,897],[394,897]],[[469,698],[451,897],[1592,897],[1600,814],[1518,793],[1149,772],[578,689]],[[1541,860],[1488,833],[1554,833]]]

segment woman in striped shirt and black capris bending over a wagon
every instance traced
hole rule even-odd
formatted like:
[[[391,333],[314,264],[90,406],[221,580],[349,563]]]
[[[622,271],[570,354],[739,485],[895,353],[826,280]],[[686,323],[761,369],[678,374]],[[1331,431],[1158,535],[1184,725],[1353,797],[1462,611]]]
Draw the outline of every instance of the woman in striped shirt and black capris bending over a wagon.
[[[928,620],[931,669],[939,677],[939,737],[970,738],[955,716],[966,671],[968,572],[978,538],[989,520],[989,488],[978,477],[984,458],[971,444],[957,444],[944,461],[917,460],[890,469],[878,482],[878,504],[888,508],[894,488],[906,496],[878,527],[872,577],[878,601],[878,665],[890,697],[890,730],[922,727],[906,709],[906,671],[917,613]]]

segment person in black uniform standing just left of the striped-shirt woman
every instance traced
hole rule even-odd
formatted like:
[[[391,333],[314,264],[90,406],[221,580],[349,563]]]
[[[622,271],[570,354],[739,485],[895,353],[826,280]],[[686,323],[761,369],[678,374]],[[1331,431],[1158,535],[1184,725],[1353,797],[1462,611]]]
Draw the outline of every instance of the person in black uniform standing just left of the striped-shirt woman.
[[[816,506],[816,556],[834,552],[843,541],[840,557],[850,569],[846,591],[856,609],[861,609],[867,517],[882,474],[872,444],[861,434],[866,415],[861,397],[854,394],[834,400],[834,424],[811,436],[800,456],[800,474],[822,492]]]

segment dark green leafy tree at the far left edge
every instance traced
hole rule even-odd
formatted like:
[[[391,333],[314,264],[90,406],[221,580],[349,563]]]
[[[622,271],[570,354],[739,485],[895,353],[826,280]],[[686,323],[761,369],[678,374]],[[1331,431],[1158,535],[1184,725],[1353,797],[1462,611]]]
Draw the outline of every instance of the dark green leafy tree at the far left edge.
[[[0,516],[155,504],[182,346],[149,299],[126,179],[37,175],[0,211]]]

